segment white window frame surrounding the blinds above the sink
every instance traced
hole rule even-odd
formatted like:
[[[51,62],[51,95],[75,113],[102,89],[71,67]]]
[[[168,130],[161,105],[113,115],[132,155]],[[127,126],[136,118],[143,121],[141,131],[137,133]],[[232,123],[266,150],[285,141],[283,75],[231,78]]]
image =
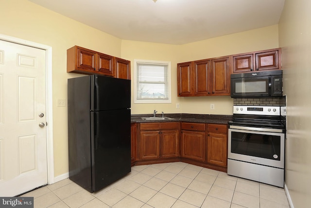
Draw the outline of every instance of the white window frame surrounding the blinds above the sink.
[[[137,99],[137,84],[138,84],[138,74],[137,74],[137,64],[159,64],[167,65],[167,97],[168,99]],[[171,87],[171,61],[158,61],[158,60],[144,60],[144,59],[134,59],[134,103],[172,103],[172,87]]]

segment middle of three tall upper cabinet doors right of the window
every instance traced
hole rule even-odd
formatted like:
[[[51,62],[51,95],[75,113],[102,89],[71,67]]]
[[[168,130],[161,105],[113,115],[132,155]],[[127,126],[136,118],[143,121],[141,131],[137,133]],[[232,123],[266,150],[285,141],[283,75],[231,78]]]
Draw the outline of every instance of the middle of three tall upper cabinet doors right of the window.
[[[210,94],[210,60],[194,62],[194,94]]]

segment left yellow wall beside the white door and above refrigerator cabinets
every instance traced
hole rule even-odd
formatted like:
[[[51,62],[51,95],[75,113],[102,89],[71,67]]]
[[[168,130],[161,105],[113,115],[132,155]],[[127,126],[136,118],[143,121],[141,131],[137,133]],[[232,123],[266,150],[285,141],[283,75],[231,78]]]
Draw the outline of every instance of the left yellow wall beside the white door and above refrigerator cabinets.
[[[67,99],[67,49],[79,45],[120,57],[121,39],[66,18],[27,0],[1,0],[0,34],[52,46],[54,175],[68,172],[67,107],[56,107]]]

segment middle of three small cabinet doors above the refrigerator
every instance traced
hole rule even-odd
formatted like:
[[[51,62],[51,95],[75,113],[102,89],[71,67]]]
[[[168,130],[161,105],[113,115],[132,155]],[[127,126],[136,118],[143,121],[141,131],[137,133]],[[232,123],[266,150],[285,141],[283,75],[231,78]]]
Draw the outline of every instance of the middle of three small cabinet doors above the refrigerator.
[[[96,71],[101,75],[113,76],[113,57],[98,53]]]

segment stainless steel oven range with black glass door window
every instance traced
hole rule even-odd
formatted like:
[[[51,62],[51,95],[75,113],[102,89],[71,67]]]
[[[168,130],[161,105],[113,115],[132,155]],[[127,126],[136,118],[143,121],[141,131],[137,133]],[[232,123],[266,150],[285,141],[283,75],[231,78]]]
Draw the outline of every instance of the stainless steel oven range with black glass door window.
[[[277,106],[233,106],[228,175],[284,187],[285,126]]]

